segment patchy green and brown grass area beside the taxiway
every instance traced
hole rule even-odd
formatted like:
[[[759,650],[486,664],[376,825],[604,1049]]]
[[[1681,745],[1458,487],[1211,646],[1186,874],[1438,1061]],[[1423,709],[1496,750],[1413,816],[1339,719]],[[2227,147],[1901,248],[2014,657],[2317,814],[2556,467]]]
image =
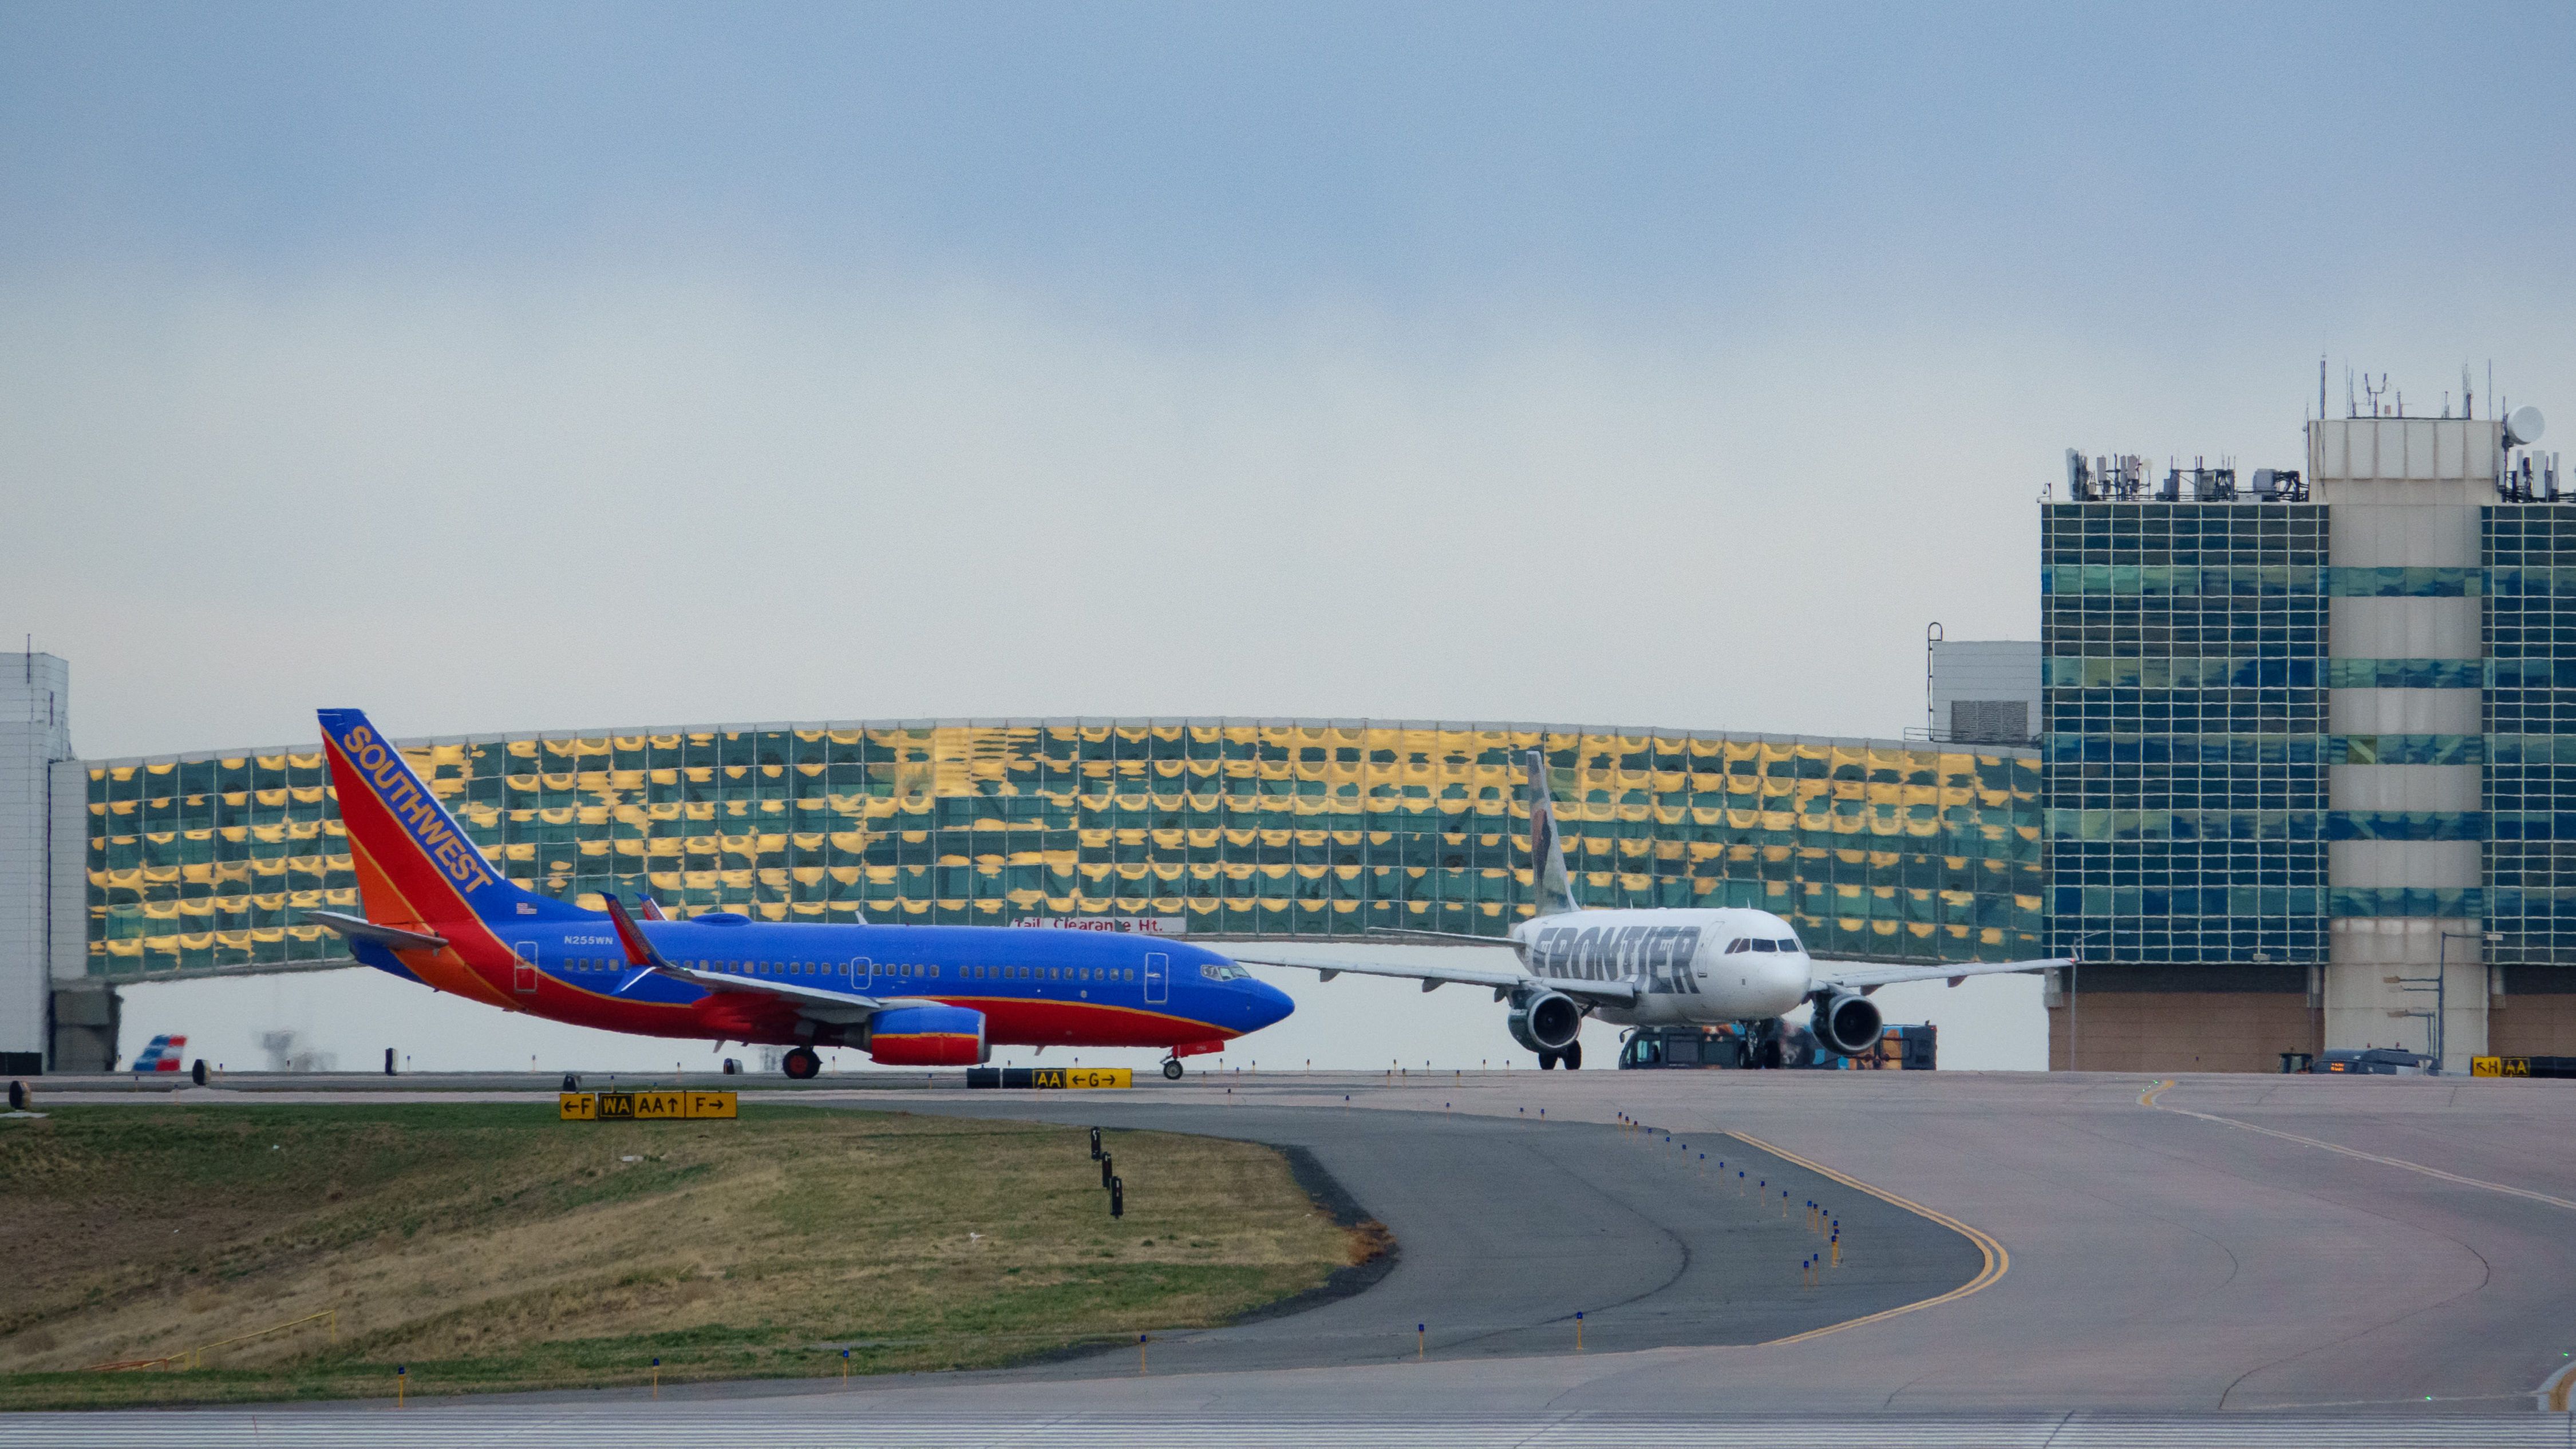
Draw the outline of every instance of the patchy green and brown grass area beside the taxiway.
[[[0,1408],[1002,1364],[1376,1251],[1249,1143],[744,1107],[70,1107],[0,1122]],[[214,1349],[201,1369],[82,1372]]]

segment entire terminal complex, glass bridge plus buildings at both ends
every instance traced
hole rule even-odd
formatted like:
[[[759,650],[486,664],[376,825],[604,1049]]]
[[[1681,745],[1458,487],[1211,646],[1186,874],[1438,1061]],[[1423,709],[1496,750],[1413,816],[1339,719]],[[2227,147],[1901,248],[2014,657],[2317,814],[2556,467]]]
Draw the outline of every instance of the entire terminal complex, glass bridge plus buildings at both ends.
[[[1589,906],[1762,906],[1826,957],[2079,955],[2056,1068],[2576,1055],[2576,507],[2517,425],[2311,422],[2306,468],[2246,486],[2069,456],[2040,638],[1935,641],[1922,739],[1030,718],[404,749],[502,870],[582,903],[1213,939],[1499,937],[1540,749]],[[319,744],[80,759],[70,667],[0,656],[10,1071],[113,1058],[121,983],[348,965],[301,921],[332,906]]]

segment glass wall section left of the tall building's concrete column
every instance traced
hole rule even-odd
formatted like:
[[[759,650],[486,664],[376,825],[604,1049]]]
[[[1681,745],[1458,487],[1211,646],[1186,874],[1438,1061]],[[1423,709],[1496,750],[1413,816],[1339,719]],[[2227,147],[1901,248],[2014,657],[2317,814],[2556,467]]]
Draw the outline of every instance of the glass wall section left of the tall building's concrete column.
[[[2326,510],[2040,507],[2050,950],[2326,952]]]

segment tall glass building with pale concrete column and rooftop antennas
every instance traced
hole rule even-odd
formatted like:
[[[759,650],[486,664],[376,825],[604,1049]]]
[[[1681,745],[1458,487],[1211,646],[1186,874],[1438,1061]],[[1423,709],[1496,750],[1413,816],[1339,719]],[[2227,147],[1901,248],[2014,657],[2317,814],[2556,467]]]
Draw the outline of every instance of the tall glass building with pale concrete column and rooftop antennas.
[[[2071,456],[2040,504],[2056,1066],[2576,1053],[2558,463],[2470,417],[2311,422],[2306,463]]]

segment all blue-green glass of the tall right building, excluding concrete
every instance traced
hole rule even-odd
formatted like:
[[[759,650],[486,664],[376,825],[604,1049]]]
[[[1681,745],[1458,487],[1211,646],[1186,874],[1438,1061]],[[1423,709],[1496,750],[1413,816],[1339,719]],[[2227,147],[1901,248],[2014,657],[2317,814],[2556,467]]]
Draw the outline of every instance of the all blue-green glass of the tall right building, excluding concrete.
[[[2045,504],[2050,942],[2318,963],[2326,919],[2486,919],[2576,960],[2576,515],[2481,510],[2478,569],[2326,561],[2326,504]],[[2483,597],[2486,659],[2326,659],[2336,597]],[[2486,690],[2486,734],[2334,734],[2326,690]],[[2334,764],[2483,764],[2483,811],[2329,811]],[[2339,885],[2324,842],[2483,842],[2483,885]],[[2257,955],[2262,952],[2262,955]]]

